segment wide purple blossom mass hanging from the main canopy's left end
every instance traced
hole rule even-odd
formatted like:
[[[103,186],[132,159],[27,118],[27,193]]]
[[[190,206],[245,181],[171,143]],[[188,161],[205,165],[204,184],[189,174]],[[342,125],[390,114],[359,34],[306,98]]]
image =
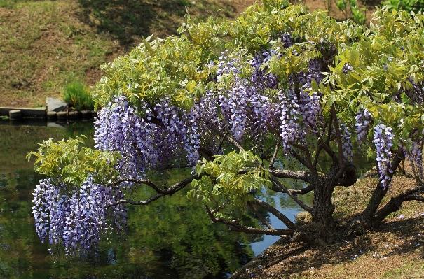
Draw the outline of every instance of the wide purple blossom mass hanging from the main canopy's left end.
[[[149,169],[166,166],[184,157],[189,164],[199,159],[198,112],[186,112],[161,99],[151,108],[140,106],[144,117],[121,96],[97,114],[96,148],[119,151],[121,177],[142,178]]]

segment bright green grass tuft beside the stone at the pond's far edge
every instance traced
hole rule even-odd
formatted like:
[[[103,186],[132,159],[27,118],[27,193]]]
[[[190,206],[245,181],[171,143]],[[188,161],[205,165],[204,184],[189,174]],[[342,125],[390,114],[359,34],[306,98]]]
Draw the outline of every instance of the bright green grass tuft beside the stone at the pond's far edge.
[[[94,101],[86,85],[80,80],[73,80],[64,87],[64,101],[74,110],[93,110]]]

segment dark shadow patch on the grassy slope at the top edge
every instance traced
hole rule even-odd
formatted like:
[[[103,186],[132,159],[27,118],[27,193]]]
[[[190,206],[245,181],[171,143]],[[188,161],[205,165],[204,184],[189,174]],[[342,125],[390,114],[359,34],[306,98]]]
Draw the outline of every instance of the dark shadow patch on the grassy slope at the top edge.
[[[231,17],[235,7],[229,3],[189,0],[78,0],[82,20],[99,33],[109,34],[124,48],[139,43],[139,38],[165,38],[177,34],[186,10],[196,10],[203,17],[216,14]],[[196,6],[196,8],[195,8]]]

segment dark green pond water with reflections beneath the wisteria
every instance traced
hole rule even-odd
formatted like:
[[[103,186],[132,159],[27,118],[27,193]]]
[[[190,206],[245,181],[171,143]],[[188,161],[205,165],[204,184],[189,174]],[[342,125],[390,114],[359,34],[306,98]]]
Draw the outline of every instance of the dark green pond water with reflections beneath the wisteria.
[[[0,121],[0,278],[227,278],[278,240],[211,224],[202,204],[187,199],[182,190],[149,206],[130,206],[125,239],[102,241],[95,256],[52,256],[32,218],[32,190],[43,176],[34,173],[34,160],[27,162],[25,156],[48,138],[85,134],[93,146],[93,123],[63,128],[7,124]],[[168,179],[172,183],[185,173],[175,171]],[[258,195],[292,220],[301,211],[283,194]],[[310,195],[302,199],[311,202]],[[266,217],[274,227],[283,227]]]

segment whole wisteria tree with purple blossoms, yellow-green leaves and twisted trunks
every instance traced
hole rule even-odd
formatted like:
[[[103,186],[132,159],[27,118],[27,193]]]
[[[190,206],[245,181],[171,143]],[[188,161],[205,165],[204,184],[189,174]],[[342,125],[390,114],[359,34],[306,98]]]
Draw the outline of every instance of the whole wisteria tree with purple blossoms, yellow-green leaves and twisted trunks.
[[[146,206],[184,187],[231,231],[308,243],[331,242],[337,231],[356,236],[402,203],[424,201],[424,15],[383,8],[367,28],[264,0],[235,21],[187,17],[179,34],[146,38],[102,66],[95,150],[76,138],[33,152],[48,176],[34,192],[40,238],[67,252],[94,248],[125,229],[125,204]],[[374,155],[380,179],[367,208],[341,228],[331,197],[357,180],[354,138]],[[326,156],[332,163],[320,169]],[[404,158],[416,185],[382,205]],[[282,168],[283,159],[298,167]],[[193,173],[175,185],[153,183],[172,168]],[[282,178],[305,186],[290,189]],[[156,194],[133,199],[144,187]],[[310,213],[312,233],[259,199],[265,187]],[[309,192],[312,207],[299,199]],[[258,208],[285,227],[272,227]],[[245,210],[264,227],[243,224]]]

